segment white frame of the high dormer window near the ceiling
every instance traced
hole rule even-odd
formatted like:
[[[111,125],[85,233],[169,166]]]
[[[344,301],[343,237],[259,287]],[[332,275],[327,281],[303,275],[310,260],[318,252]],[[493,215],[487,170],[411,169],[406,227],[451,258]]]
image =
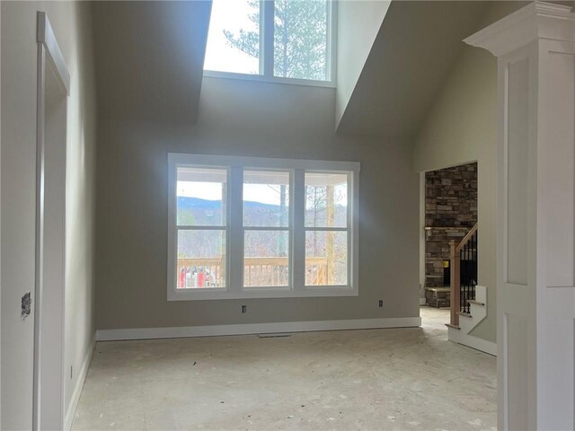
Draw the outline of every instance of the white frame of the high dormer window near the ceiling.
[[[328,79],[318,81],[314,79],[284,78],[273,75],[273,22],[274,0],[260,1],[260,74],[238,74],[234,72],[221,72],[204,69],[204,76],[210,78],[242,79],[246,81],[259,81],[275,84],[312,85],[315,87],[335,88],[336,64],[337,64],[337,15],[338,7],[336,0],[328,1],[327,13],[327,74]],[[271,29],[271,31],[270,31]]]

